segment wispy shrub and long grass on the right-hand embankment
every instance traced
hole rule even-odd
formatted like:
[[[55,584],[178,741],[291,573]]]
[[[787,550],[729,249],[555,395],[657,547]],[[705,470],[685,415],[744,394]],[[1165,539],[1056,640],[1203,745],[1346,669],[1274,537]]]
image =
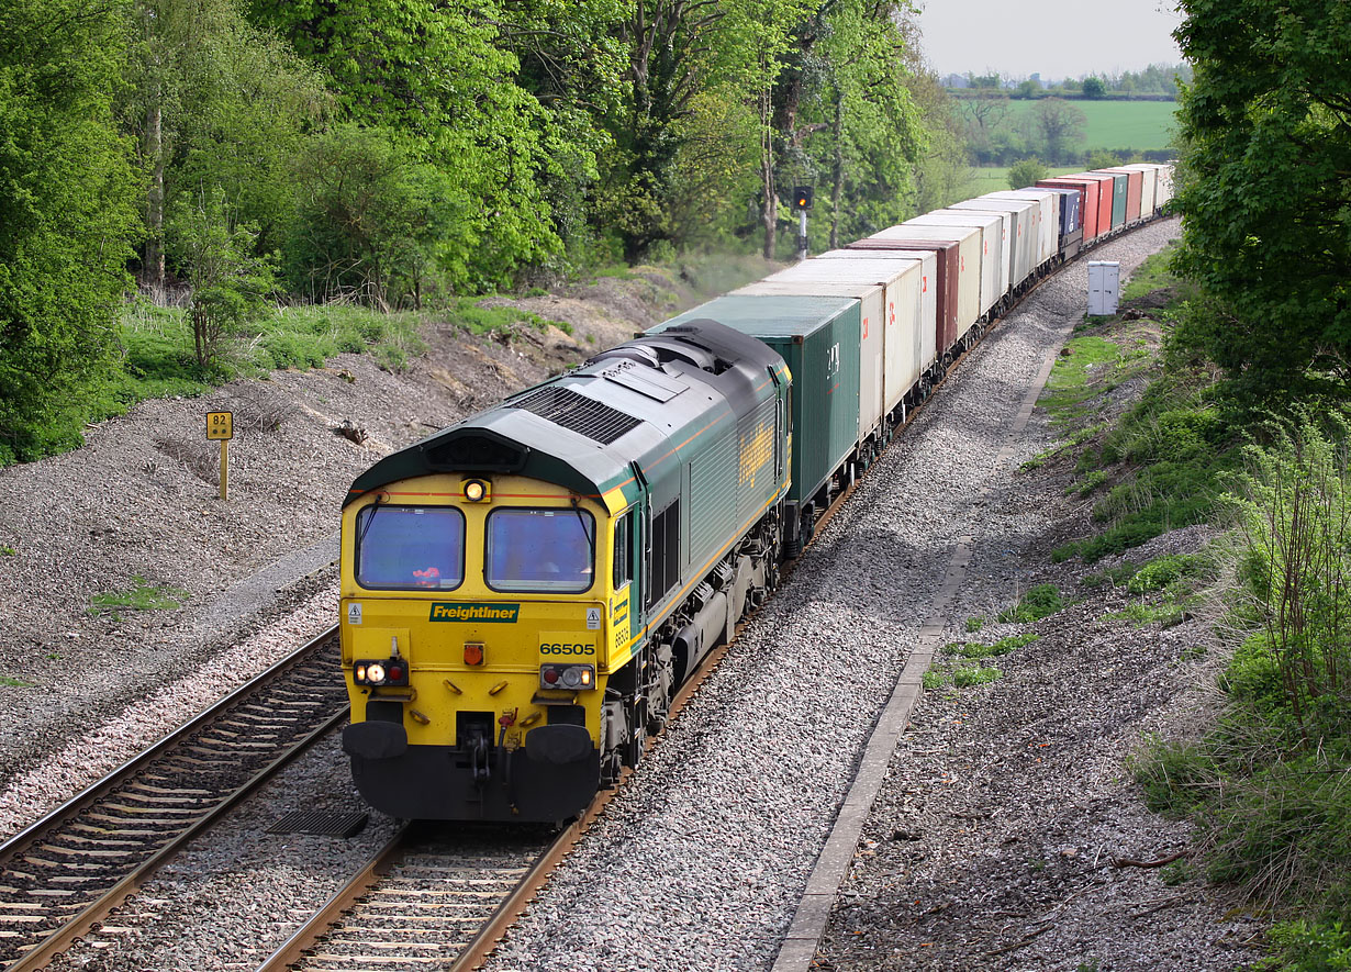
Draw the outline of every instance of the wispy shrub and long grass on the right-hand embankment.
[[[1224,710],[1136,764],[1150,805],[1190,815],[1216,880],[1282,918],[1281,968],[1351,968],[1351,423],[1262,429],[1223,497],[1242,641]]]

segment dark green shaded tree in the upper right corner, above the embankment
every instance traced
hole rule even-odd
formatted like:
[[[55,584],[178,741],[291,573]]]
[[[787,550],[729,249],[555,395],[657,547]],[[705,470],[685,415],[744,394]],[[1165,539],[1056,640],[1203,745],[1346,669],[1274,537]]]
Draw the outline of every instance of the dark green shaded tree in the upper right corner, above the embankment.
[[[1335,0],[1183,0],[1179,269],[1192,335],[1256,398],[1351,381],[1351,19]]]

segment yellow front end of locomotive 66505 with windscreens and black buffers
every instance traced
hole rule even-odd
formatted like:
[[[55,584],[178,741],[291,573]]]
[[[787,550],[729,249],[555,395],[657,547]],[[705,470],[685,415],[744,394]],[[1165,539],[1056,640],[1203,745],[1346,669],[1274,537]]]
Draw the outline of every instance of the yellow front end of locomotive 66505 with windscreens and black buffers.
[[[373,806],[542,821],[586,806],[607,682],[631,643],[624,508],[621,490],[455,474],[349,504],[343,748]]]

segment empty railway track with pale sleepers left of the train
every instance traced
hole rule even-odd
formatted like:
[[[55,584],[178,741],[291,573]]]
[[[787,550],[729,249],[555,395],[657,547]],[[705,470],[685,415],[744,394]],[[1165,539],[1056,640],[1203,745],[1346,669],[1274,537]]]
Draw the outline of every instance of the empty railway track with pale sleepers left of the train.
[[[336,628],[0,845],[0,964],[41,968],[347,717]]]

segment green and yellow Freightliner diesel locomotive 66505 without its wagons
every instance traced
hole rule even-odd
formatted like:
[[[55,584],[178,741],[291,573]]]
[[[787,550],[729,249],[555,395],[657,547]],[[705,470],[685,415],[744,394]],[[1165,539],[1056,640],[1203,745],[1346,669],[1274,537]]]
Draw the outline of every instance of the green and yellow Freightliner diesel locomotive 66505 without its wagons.
[[[343,509],[343,748],[403,818],[558,821],[774,586],[784,359],[639,338],[416,446]]]

